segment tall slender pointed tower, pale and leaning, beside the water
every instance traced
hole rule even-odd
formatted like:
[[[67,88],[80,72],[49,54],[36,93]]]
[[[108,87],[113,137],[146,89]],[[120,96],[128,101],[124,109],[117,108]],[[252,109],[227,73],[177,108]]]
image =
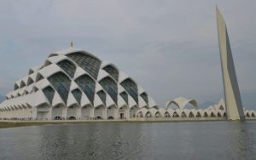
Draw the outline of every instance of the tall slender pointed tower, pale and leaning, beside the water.
[[[230,120],[243,120],[244,113],[226,23],[217,7],[216,14],[218,25],[218,45],[221,58],[227,116]]]

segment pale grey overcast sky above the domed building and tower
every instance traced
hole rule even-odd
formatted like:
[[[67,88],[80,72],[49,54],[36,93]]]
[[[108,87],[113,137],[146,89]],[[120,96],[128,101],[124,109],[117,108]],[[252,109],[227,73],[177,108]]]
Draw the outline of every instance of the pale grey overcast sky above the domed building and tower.
[[[159,106],[177,96],[218,101],[224,94],[216,4],[241,93],[256,95],[254,0],[0,1],[0,94],[73,41],[125,71]]]

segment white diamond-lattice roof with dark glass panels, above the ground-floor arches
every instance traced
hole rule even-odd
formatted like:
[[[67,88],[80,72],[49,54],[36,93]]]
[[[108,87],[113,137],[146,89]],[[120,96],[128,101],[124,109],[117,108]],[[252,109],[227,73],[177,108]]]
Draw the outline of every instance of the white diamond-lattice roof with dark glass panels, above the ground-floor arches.
[[[37,98],[36,98],[37,97]],[[29,69],[1,106],[137,106],[157,108],[154,100],[123,71],[81,49],[49,54]]]

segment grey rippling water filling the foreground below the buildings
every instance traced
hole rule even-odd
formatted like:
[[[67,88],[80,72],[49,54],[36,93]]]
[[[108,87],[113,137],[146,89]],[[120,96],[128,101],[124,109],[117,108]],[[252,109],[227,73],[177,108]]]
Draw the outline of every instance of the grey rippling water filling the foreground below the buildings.
[[[0,159],[256,159],[256,122],[0,129]]]

